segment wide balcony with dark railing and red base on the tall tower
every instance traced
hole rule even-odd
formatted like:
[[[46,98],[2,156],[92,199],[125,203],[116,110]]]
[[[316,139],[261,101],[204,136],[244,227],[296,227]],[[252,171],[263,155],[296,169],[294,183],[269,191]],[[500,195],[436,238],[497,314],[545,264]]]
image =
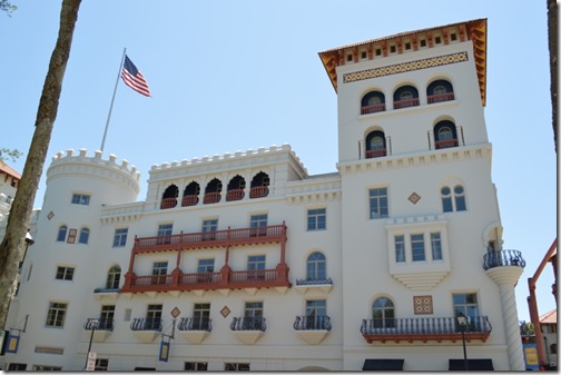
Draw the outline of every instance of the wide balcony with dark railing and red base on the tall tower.
[[[465,339],[480,339],[483,343],[491,334],[486,316],[471,316],[465,330]],[[454,317],[363,319],[361,333],[368,344],[372,342],[462,342],[462,330]]]

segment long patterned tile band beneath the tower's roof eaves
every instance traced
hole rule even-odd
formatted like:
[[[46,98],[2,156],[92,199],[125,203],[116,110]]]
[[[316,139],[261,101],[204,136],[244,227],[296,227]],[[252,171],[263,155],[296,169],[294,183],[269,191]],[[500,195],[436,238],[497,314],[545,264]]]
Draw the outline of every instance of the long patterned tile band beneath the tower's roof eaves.
[[[356,72],[343,75],[343,83],[362,81],[364,79],[371,79],[371,78],[376,78],[376,77],[397,75],[397,73],[403,73],[406,71],[434,68],[434,67],[445,66],[445,65],[455,63],[455,62],[463,62],[463,61],[468,61],[468,52],[457,52],[457,53],[433,57],[433,58],[429,58],[429,59],[395,63],[393,66],[362,70],[362,71],[356,71]]]

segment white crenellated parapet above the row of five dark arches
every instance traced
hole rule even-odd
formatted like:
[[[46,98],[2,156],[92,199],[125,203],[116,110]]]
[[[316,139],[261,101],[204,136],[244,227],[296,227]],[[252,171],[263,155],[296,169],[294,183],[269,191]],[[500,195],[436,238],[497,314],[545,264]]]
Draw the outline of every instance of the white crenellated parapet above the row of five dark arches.
[[[306,167],[304,167],[304,164],[299,159],[299,157],[294,152],[292,149],[291,145],[284,144],[282,146],[276,146],[273,145],[269,148],[266,147],[259,147],[257,150],[254,150],[252,148],[247,149],[246,151],[236,151],[234,154],[232,152],[226,152],[224,155],[215,155],[213,157],[205,156],[203,158],[195,157],[190,160],[181,160],[179,161],[173,161],[173,162],[163,162],[161,165],[152,165],[150,170],[163,170],[163,169],[169,169],[169,168],[176,168],[176,167],[188,167],[188,166],[203,166],[203,165],[209,165],[214,162],[224,162],[224,161],[237,161],[242,160],[244,158],[252,158],[252,157],[258,157],[258,156],[267,156],[272,154],[282,154],[282,152],[288,152],[296,164],[307,174]]]

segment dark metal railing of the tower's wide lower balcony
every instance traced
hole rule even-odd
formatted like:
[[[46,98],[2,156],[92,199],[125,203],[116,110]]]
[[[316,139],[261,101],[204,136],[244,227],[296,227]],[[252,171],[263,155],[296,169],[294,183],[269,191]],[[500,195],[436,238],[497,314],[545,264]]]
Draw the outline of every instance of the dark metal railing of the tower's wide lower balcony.
[[[465,333],[490,333],[491,323],[486,316],[470,316]],[[462,333],[462,327],[454,317],[430,318],[386,318],[363,319],[363,335],[431,335]]]

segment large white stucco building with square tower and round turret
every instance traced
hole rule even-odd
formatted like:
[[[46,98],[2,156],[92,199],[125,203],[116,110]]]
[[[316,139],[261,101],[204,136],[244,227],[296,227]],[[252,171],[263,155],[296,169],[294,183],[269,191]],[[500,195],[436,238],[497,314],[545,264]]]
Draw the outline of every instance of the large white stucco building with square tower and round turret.
[[[523,371],[486,20],[319,58],[338,103],[332,174],[272,146],[155,165],[138,201],[128,161],[57,154],[6,368],[82,369],[91,338],[98,369],[446,371],[464,336],[471,369]]]

